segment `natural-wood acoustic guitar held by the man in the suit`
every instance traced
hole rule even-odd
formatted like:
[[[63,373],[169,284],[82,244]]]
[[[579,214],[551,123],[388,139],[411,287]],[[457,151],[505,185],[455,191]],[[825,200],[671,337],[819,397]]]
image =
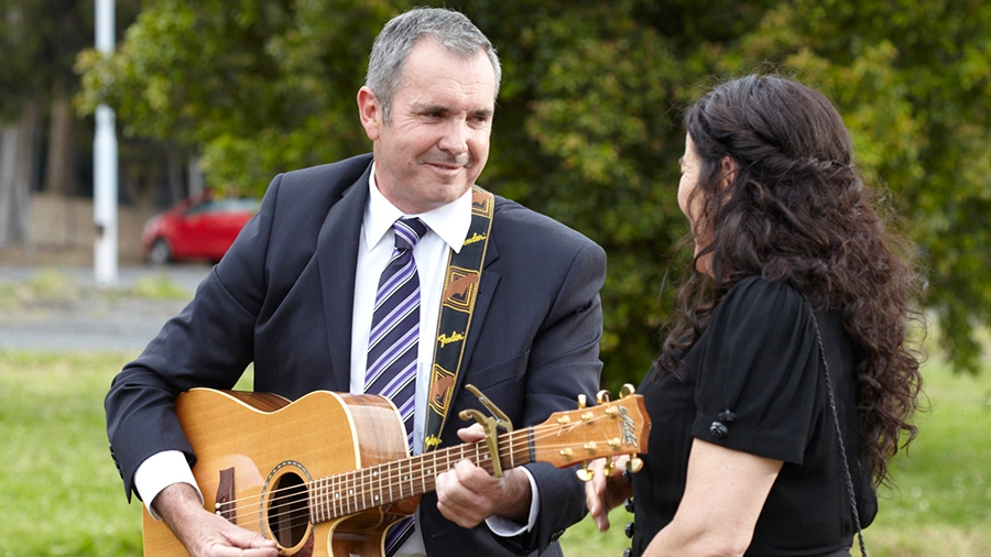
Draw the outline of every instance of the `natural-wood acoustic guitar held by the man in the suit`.
[[[587,459],[646,452],[642,397],[602,402],[499,435],[498,466],[487,440],[410,457],[400,415],[379,395],[317,391],[290,402],[194,389],[176,398],[175,412],[208,510],[274,539],[285,556],[379,557],[389,527],[461,459],[489,473],[527,462],[580,466],[588,479]],[[144,555],[188,555],[148,511]]]

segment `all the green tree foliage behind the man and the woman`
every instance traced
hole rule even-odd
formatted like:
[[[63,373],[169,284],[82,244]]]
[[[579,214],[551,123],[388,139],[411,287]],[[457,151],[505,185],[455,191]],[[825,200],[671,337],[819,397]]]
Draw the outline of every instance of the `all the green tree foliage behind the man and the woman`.
[[[402,0],[161,0],[109,58],[79,59],[80,106],[202,149],[214,184],[261,192],[276,172],[369,150],[356,114],[368,52]],[[716,79],[775,70],[835,100],[857,164],[917,242],[927,298],[959,369],[991,318],[988,94],[980,0],[464,0],[503,62],[482,185],[609,254],[603,382],[636,382],[688,260],[675,201],[682,109]],[[714,77],[718,76],[718,77]],[[658,292],[661,295],[658,296]]]

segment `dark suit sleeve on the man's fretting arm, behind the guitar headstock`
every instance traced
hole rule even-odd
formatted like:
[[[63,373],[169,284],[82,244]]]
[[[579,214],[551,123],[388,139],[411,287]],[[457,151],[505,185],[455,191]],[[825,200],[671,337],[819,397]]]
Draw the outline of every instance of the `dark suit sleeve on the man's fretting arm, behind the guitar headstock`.
[[[535,425],[548,413],[574,409],[575,393],[599,389],[602,363],[602,305],[599,291],[606,281],[606,252],[595,243],[580,249],[560,285],[547,319],[531,347],[526,369],[526,425]],[[527,534],[503,538],[521,553],[543,551],[579,522],[586,513],[585,487],[573,469],[549,463],[527,465],[541,496],[536,525]]]

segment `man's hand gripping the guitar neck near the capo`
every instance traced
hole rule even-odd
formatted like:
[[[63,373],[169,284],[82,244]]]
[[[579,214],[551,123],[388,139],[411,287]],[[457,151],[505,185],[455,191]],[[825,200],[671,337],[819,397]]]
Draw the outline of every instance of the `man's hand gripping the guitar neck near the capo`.
[[[458,429],[466,443],[486,438],[478,424]],[[502,478],[489,476],[484,469],[465,459],[454,469],[437,476],[437,509],[458,526],[472,528],[492,515],[526,521],[533,496],[530,479],[521,470],[503,470]]]

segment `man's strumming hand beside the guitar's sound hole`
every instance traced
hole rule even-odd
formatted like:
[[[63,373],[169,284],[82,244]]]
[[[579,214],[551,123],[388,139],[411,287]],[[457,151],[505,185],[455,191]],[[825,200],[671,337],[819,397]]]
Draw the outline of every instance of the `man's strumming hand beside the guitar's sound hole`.
[[[152,505],[193,557],[279,556],[275,542],[204,509],[188,483],[165,488]]]

